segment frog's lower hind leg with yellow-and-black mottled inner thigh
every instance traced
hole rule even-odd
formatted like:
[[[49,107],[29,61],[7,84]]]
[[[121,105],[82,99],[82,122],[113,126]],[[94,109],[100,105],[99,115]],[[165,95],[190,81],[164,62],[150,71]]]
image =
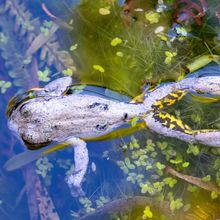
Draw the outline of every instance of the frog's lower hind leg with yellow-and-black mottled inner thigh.
[[[220,147],[220,131],[192,130],[188,125],[174,116],[156,111],[144,117],[147,127],[159,134],[174,137],[188,143],[200,143]]]

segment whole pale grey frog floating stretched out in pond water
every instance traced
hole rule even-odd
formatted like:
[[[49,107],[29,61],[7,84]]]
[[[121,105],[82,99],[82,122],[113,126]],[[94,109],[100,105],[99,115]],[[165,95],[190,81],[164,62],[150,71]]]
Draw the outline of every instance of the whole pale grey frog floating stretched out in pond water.
[[[158,134],[191,144],[220,147],[220,131],[193,130],[164,110],[196,92],[220,95],[220,75],[185,77],[182,80],[143,89],[130,102],[91,94],[72,93],[71,77],[61,77],[31,90],[28,97],[15,96],[7,109],[8,126],[29,150],[42,149],[53,142],[73,146],[75,170],[67,178],[74,197],[84,195],[83,179],[89,164],[87,142],[108,137],[134,118]],[[31,94],[31,96],[30,96]]]

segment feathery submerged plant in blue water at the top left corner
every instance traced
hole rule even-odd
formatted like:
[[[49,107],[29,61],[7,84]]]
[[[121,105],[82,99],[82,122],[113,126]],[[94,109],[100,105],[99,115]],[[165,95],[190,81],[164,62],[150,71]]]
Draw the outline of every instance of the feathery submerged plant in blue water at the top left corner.
[[[42,66],[45,68],[53,66],[60,73],[67,68],[75,71],[69,52],[61,49],[56,39],[55,32],[59,28],[57,24],[36,18],[25,3],[19,0],[2,1],[0,17],[2,36],[0,51],[9,76],[14,79],[16,86],[21,87],[30,82],[32,86],[36,86],[37,71]],[[38,50],[39,56],[36,54]],[[38,73],[40,75],[40,72]]]

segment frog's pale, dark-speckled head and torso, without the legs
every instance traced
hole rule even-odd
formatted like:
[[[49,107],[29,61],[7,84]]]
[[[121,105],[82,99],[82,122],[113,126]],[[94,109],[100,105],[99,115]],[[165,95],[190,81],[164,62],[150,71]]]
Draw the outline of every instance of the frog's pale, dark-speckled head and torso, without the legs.
[[[96,137],[143,116],[143,104],[116,102],[91,95],[38,97],[19,106],[11,115],[9,126],[30,146],[51,141]],[[34,148],[34,147],[33,147]]]

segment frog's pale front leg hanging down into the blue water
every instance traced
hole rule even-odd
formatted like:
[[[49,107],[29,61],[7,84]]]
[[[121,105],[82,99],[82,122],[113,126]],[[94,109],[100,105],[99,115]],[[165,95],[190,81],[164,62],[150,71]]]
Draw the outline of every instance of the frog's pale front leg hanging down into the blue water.
[[[83,196],[84,192],[81,188],[81,184],[89,163],[86,142],[75,137],[69,138],[66,140],[66,142],[73,145],[75,163],[75,170],[70,176],[67,177],[67,184],[73,197]]]

